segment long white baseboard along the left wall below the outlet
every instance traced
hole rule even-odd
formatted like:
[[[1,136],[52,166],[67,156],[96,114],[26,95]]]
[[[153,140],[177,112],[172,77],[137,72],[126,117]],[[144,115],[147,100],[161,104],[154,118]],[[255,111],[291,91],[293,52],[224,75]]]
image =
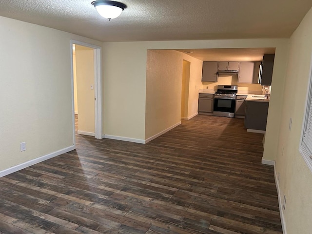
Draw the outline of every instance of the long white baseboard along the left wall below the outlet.
[[[65,153],[67,153],[69,151],[72,151],[72,150],[75,150],[75,146],[74,145],[66,147],[66,148],[61,149],[61,150],[58,150],[56,152],[44,155],[44,156],[40,156],[40,157],[34,158],[34,159],[30,160],[30,161],[23,162],[23,163],[21,163],[19,165],[16,165],[16,166],[10,167],[8,169],[5,169],[3,171],[0,171],[0,177],[9,175],[9,174],[17,172],[17,171],[20,171],[21,169],[24,169],[24,168],[32,166],[32,165],[34,165],[36,163],[45,161],[45,160],[50,159],[52,157],[59,156],[61,154],[65,154]]]

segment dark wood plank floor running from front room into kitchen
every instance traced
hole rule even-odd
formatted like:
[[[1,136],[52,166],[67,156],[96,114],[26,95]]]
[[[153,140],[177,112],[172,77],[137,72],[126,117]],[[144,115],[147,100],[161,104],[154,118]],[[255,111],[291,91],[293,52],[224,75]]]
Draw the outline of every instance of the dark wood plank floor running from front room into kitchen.
[[[243,123],[196,116],[145,145],[77,136],[0,178],[0,233],[281,234],[263,135]]]

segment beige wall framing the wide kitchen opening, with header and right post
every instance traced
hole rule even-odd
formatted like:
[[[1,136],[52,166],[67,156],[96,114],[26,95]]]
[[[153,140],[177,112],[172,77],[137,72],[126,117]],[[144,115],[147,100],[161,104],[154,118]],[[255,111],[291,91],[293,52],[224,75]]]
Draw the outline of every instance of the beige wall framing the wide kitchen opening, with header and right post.
[[[103,43],[105,135],[144,140],[147,50],[276,48],[264,158],[275,160],[289,39],[140,41]],[[275,84],[275,85],[274,85]],[[202,84],[198,84],[198,89]],[[198,96],[197,89],[197,96]],[[195,97],[195,96],[194,96]],[[197,97],[198,98],[198,97]],[[195,104],[197,105],[197,104]],[[196,108],[194,108],[195,111]]]

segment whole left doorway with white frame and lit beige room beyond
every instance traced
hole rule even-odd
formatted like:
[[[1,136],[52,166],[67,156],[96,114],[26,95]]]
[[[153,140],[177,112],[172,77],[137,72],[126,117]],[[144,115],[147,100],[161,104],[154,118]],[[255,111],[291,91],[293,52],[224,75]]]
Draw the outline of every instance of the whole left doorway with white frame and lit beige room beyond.
[[[71,51],[74,131],[77,130],[81,135],[103,138],[101,48],[72,40]]]

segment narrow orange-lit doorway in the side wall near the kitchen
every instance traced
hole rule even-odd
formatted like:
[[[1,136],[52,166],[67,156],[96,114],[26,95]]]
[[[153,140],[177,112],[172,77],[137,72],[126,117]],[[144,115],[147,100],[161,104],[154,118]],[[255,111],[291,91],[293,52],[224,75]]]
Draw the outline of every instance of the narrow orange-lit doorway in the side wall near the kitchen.
[[[182,92],[181,92],[181,119],[188,119],[190,69],[191,69],[191,62],[183,60]]]

